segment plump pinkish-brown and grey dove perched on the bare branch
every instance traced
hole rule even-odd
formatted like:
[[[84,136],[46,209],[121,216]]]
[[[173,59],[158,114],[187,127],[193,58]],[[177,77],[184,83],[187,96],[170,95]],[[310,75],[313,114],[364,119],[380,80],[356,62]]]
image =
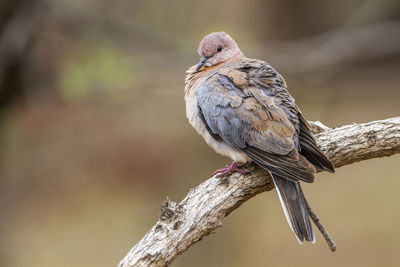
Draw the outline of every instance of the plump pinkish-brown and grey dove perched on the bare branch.
[[[200,62],[187,70],[186,117],[205,142],[232,163],[217,177],[254,162],[272,177],[297,240],[315,242],[300,182],[335,171],[310,125],[271,65],[247,58],[232,37],[212,32],[200,42]]]

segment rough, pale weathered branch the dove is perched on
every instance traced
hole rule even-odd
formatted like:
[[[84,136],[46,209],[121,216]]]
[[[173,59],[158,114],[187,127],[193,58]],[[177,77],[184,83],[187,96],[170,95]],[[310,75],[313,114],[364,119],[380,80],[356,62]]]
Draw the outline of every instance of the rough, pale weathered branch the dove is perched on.
[[[330,129],[311,123],[322,151],[335,167],[400,153],[400,117]],[[211,177],[180,203],[168,198],[159,221],[119,263],[119,267],[167,266],[179,254],[222,226],[225,216],[255,195],[274,188],[267,171],[247,164],[248,174]]]

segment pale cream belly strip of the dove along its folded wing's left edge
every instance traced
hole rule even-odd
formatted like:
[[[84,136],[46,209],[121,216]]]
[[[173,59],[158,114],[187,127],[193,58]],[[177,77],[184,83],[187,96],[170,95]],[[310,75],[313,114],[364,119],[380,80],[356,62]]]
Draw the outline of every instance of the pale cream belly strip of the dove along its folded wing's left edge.
[[[220,155],[231,158],[233,161],[238,163],[246,163],[249,162],[250,159],[247,155],[230,144],[224,142],[223,140],[216,140],[214,137],[210,135],[204,122],[199,117],[198,103],[196,96],[191,96],[190,92],[185,96],[186,101],[186,117],[188,118],[190,124],[193,128],[203,137],[206,143],[212,147],[215,152]]]

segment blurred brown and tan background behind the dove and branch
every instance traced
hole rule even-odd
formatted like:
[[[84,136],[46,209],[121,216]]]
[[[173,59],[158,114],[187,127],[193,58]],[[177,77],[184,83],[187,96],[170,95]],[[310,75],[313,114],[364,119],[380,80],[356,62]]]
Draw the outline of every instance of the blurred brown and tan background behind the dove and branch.
[[[115,266],[229,161],[185,118],[185,70],[226,31],[271,63],[309,120],[400,113],[400,2],[1,0],[0,265]],[[300,246],[275,192],[173,266],[395,266],[400,156],[304,185],[334,237]]]

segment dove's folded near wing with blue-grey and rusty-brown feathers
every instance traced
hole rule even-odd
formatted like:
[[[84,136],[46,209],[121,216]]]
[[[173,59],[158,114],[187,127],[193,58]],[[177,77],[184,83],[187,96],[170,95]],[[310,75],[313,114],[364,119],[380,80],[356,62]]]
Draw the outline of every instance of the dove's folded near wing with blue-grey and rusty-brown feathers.
[[[293,100],[283,87],[279,90],[287,96],[268,89],[284,81],[266,63],[259,65],[240,64],[209,77],[198,91],[199,116],[213,136],[263,168],[286,179],[312,182],[315,168],[297,150],[298,118],[288,110]]]

